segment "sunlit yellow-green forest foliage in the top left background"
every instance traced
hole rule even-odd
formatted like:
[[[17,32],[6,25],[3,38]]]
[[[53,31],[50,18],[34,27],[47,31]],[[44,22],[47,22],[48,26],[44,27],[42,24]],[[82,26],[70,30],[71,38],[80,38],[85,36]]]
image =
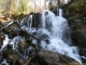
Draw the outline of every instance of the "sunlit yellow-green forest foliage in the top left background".
[[[19,14],[29,13],[30,9],[28,8],[30,0],[0,0],[0,13],[2,13],[6,17],[11,17],[12,15],[18,16]]]

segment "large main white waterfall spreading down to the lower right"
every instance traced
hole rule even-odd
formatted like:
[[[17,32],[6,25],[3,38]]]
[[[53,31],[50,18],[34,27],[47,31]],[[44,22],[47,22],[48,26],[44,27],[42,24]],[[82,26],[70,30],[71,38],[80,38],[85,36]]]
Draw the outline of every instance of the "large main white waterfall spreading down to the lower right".
[[[49,44],[41,41],[41,47],[60,54],[68,55],[78,63],[82,63],[78,50],[72,47],[68,22],[62,17],[62,10],[59,10],[59,15],[56,16],[53,12],[46,10],[42,13],[41,28],[39,35],[45,34],[48,36]]]

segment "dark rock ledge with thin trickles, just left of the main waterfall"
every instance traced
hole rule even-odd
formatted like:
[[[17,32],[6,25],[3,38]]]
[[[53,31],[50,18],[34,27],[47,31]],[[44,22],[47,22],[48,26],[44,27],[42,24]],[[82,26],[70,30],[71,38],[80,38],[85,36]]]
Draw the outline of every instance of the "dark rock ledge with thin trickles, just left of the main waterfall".
[[[30,13],[30,14],[28,14],[20,22],[20,26],[24,26],[24,25],[25,26],[30,26],[31,20],[32,20],[32,27],[38,28],[40,26],[39,24],[40,24],[40,21],[41,21],[41,14],[40,13]]]

